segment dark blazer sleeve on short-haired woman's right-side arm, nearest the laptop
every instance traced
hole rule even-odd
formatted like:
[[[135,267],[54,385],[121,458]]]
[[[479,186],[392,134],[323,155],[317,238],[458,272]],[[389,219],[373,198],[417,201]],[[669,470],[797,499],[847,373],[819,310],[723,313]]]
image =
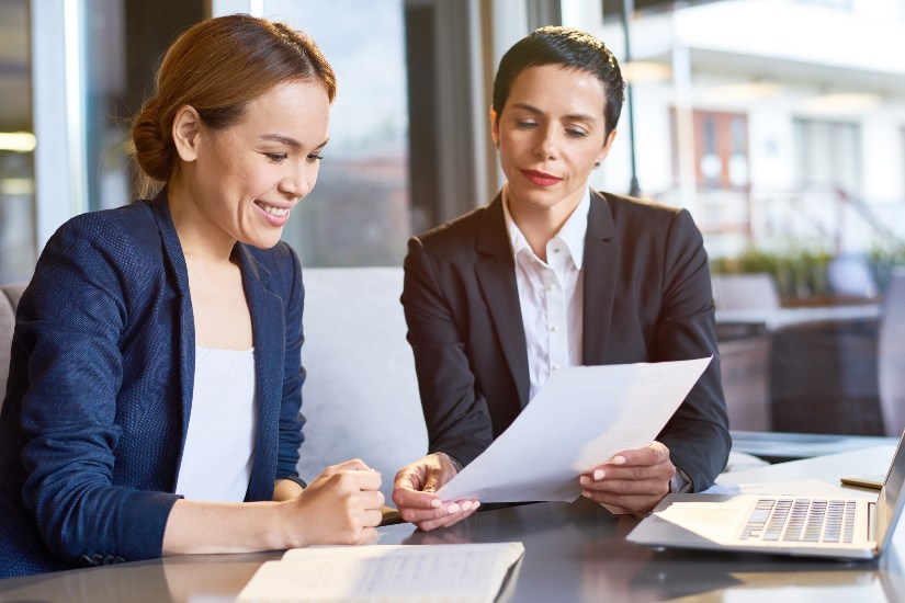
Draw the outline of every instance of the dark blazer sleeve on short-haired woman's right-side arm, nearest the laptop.
[[[710,488],[725,468],[732,440],[720,379],[708,255],[698,227],[682,209],[676,213],[666,239],[654,361],[710,355],[713,360],[659,435],[672,463],[691,478],[695,492]]]

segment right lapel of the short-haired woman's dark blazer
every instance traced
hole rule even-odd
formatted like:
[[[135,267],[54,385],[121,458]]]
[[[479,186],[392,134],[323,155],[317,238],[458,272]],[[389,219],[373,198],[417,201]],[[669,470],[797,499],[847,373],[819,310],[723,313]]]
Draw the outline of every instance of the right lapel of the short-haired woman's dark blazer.
[[[585,296],[582,317],[582,364],[603,364],[610,339],[619,246],[613,244],[615,224],[604,196],[591,191],[588,231],[585,235]]]

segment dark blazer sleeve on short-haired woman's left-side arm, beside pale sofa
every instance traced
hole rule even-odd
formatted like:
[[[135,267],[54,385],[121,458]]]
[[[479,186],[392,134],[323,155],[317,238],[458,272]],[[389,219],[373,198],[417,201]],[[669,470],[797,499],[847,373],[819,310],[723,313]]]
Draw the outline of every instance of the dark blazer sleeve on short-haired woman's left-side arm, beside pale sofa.
[[[455,281],[438,275],[418,238],[408,243],[404,268],[401,302],[427,422],[428,452],[444,452],[467,465],[494,436],[487,401],[476,392],[465,337],[456,325],[462,317],[453,310]],[[448,295],[446,289],[453,293]]]

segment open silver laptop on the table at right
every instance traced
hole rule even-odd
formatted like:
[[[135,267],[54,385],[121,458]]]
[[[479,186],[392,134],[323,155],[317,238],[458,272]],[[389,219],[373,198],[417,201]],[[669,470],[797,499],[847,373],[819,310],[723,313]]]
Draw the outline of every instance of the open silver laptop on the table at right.
[[[776,555],[873,559],[905,507],[905,432],[875,501],[869,498],[668,494],[629,534],[633,543]]]

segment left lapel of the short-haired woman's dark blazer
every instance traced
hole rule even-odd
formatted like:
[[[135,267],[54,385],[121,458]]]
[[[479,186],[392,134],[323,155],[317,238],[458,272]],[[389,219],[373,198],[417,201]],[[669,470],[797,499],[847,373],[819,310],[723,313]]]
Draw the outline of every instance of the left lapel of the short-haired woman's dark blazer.
[[[501,195],[497,195],[484,214],[478,226],[476,247],[482,258],[475,265],[475,276],[490,312],[502,354],[512,373],[519,402],[524,408],[530,386],[528,344],[524,341],[516,265],[506,232]]]

